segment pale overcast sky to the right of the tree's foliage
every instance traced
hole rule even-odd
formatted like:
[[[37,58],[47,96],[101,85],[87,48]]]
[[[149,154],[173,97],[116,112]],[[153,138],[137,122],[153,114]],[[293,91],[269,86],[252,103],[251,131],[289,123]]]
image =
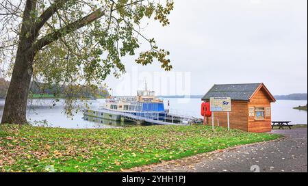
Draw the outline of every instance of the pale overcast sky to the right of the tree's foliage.
[[[219,83],[264,82],[272,94],[307,92],[307,0],[175,0],[170,25],[150,21],[144,33],[171,53],[174,68],[161,76],[183,77],[171,90],[180,81],[185,94],[205,94]],[[127,57],[125,64],[127,75],[107,79],[114,94],[135,94],[144,79],[157,94],[181,94],[157,90],[167,81],[155,81],[163,71],[158,62],[140,66]],[[136,73],[138,88],[129,84]]]

